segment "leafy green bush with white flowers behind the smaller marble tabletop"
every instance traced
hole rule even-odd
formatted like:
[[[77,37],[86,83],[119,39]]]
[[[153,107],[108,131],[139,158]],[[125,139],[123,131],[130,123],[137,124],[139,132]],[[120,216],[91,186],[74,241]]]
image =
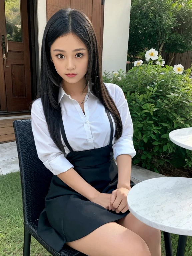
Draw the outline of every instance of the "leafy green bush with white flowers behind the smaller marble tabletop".
[[[169,133],[192,127],[190,70],[184,71],[181,65],[162,67],[161,56],[153,59],[135,65],[126,74],[122,70],[104,72],[103,79],[118,84],[127,98],[137,152],[133,164],[160,173],[167,168],[189,170],[192,152],[172,143]]]

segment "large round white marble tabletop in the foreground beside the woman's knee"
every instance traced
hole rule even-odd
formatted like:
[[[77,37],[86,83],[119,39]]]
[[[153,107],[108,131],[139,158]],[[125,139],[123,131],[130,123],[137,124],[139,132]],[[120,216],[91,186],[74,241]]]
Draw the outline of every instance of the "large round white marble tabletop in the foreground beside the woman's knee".
[[[142,181],[131,188],[127,202],[130,212],[148,226],[192,236],[192,178]]]

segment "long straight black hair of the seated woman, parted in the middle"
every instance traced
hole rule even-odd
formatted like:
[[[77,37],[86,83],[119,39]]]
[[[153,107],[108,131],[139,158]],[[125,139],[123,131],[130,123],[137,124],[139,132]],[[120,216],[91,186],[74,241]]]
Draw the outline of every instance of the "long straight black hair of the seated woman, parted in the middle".
[[[59,87],[61,86],[62,78],[58,75],[53,62],[50,60],[50,47],[58,37],[69,33],[79,37],[88,48],[89,59],[88,71],[85,75],[86,85],[93,83],[92,88],[90,88],[91,91],[98,97],[105,108],[111,112],[116,125],[115,139],[121,137],[123,130],[119,111],[103,83],[98,44],[91,21],[80,10],[61,9],[49,19],[43,34],[40,91],[36,99],[41,98],[50,136],[64,154],[65,150],[61,141],[59,125],[61,107],[58,104]]]

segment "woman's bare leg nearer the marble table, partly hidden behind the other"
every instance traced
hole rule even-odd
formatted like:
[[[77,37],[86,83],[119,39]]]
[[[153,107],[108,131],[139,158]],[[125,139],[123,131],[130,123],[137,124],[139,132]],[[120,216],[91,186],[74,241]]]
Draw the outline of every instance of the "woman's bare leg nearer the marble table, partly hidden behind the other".
[[[149,247],[151,256],[161,256],[161,231],[152,228],[136,219],[132,213],[127,214],[118,224],[138,234]]]

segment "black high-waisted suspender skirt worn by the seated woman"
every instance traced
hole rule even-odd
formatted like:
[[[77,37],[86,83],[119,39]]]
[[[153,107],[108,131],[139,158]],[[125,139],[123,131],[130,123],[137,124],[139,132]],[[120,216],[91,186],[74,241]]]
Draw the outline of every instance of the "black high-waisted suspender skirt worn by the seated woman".
[[[113,160],[113,123],[109,111],[105,111],[111,127],[110,142],[105,147],[73,151],[66,138],[62,117],[60,124],[63,140],[70,150],[66,158],[74,169],[99,192],[112,193],[117,188],[118,173]],[[117,214],[89,201],[54,175],[45,198],[45,209],[39,217],[38,235],[59,252],[65,242],[80,239],[128,213],[129,210]]]

